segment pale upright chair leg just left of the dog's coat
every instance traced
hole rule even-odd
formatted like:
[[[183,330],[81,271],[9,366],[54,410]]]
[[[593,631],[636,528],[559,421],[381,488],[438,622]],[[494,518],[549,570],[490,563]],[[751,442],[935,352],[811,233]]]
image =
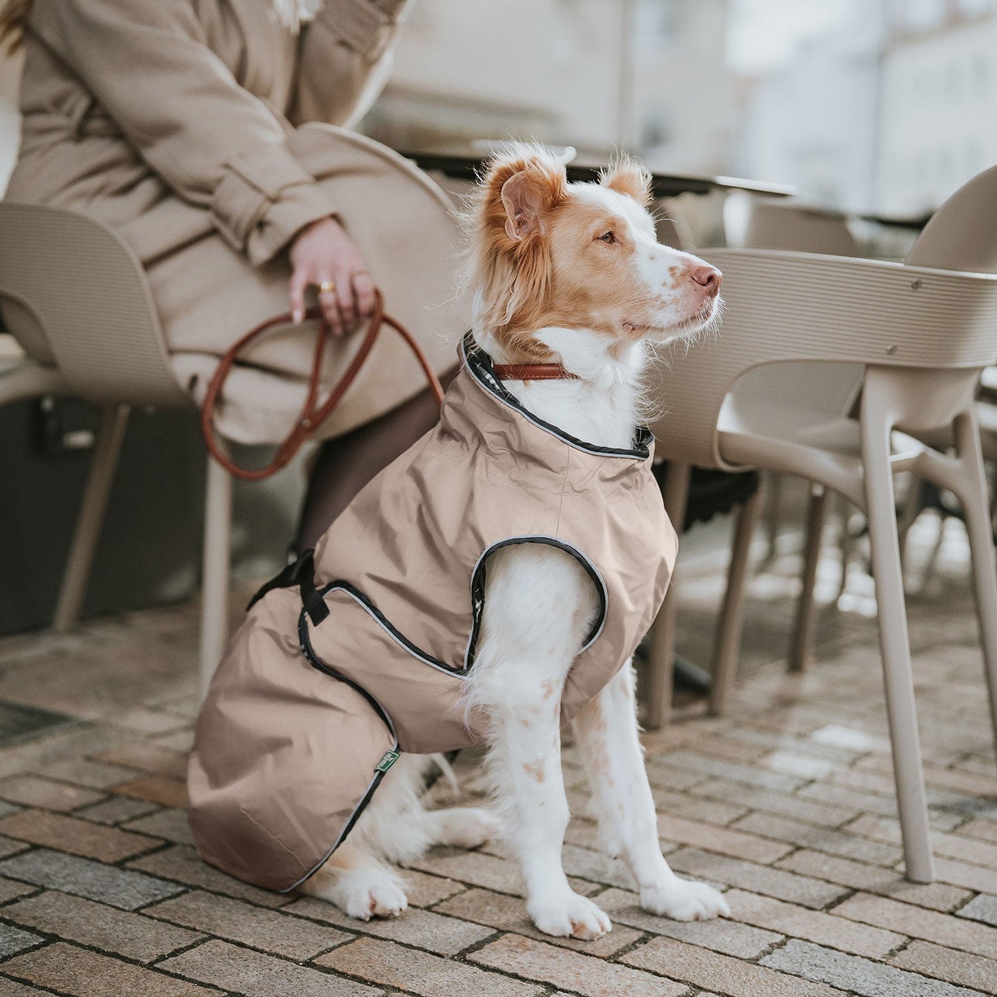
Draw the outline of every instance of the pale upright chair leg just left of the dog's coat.
[[[229,541],[232,527],[232,479],[207,459],[204,493],[204,553],[201,579],[200,693],[207,692],[228,637]]]

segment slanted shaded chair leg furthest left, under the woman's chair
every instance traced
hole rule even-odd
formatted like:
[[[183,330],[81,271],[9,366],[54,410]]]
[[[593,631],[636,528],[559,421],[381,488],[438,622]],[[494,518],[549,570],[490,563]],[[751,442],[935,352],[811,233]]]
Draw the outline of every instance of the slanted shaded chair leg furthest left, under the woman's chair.
[[[90,461],[83,503],[76,520],[73,545],[66,561],[66,571],[52,621],[58,633],[72,629],[80,620],[130,411],[127,405],[111,405],[101,413],[101,429]]]

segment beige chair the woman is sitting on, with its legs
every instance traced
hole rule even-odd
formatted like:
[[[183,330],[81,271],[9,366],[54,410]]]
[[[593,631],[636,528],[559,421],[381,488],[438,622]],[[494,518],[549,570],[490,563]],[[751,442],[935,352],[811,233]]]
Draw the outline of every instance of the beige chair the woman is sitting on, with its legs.
[[[27,313],[54,362],[0,365],[0,405],[72,395],[101,406],[101,429],[56,605],[54,626],[79,619],[134,405],[189,409],[173,378],[146,276],[113,229],[60,208],[0,203],[0,303]],[[206,684],[227,637],[231,479],[207,462],[200,674]]]

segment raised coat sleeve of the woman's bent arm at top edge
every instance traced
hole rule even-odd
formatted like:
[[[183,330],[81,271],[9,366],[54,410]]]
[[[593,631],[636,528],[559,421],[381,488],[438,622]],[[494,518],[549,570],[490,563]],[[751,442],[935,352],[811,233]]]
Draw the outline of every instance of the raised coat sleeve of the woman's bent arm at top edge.
[[[409,0],[325,0],[301,31],[291,121],[344,125],[377,96]],[[371,93],[371,91],[375,91]],[[363,108],[362,110],[366,110]]]

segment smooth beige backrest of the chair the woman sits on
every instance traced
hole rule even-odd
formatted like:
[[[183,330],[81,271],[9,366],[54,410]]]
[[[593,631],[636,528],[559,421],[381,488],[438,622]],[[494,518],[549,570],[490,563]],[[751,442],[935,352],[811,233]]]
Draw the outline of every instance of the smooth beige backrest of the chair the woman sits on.
[[[142,264],[77,211],[0,203],[0,300],[37,322],[74,394],[185,408]]]

